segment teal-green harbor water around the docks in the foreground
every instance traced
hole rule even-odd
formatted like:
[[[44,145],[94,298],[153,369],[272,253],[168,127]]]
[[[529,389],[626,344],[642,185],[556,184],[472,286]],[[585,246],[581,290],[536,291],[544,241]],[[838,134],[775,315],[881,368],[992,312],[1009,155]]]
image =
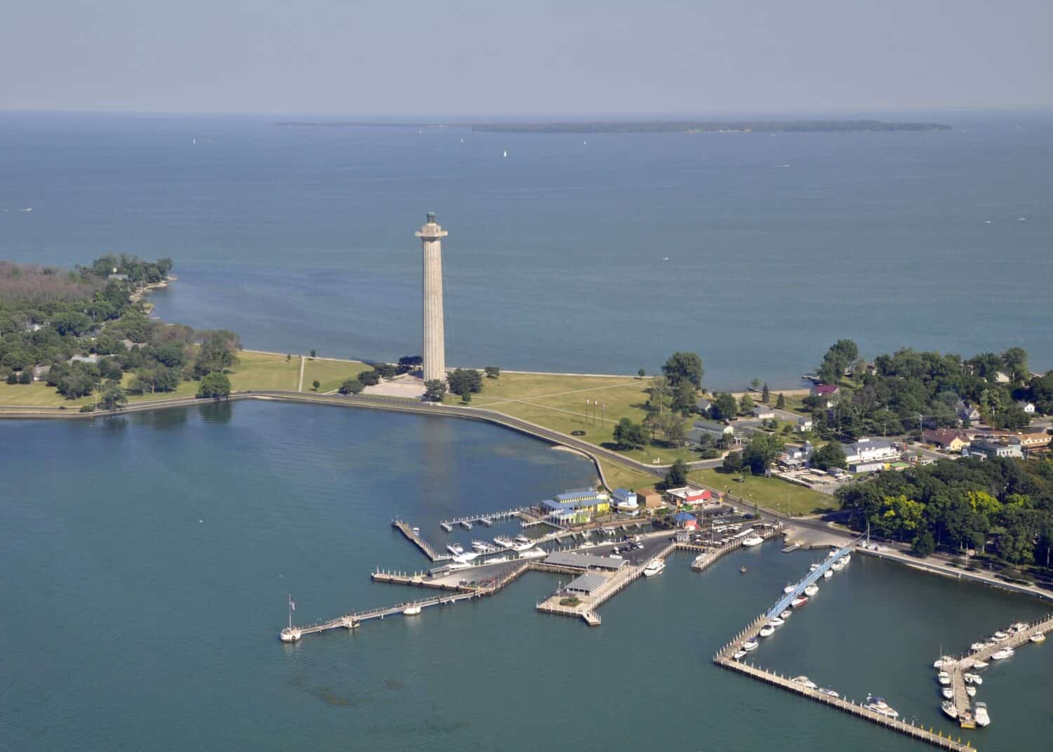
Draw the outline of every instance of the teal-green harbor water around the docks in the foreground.
[[[367,576],[423,563],[395,514],[442,543],[442,517],[593,479],[589,462],[496,427],[201,405],[5,422],[0,457],[5,748],[926,749],[710,662],[818,555],[777,545],[701,575],[677,555],[609,601],[598,629],[537,614],[559,578],[532,573],[476,603],[282,646],[289,593],[302,621],[420,595]],[[821,588],[757,662],[942,728],[940,648],[1044,612],[861,556]],[[980,749],[1048,749],[1051,671],[1049,645],[987,671]]]

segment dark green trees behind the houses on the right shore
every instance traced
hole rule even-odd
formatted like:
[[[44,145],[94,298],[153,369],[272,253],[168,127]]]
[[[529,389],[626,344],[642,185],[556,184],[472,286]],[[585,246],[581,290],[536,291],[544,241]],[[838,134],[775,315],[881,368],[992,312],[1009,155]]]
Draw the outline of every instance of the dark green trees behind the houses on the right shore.
[[[975,405],[988,424],[1007,429],[1030,422],[1017,400],[1030,399],[1042,412],[1053,409],[1053,377],[1031,378],[1028,354],[1020,348],[972,358],[902,349],[875,358],[873,372],[867,371],[858,352],[855,342],[841,339],[823,356],[823,381],[848,388],[843,374],[850,371],[856,383],[829,411],[826,400],[806,399],[820,436],[853,440],[866,434],[906,433],[919,423],[953,427],[959,420],[959,402]]]

